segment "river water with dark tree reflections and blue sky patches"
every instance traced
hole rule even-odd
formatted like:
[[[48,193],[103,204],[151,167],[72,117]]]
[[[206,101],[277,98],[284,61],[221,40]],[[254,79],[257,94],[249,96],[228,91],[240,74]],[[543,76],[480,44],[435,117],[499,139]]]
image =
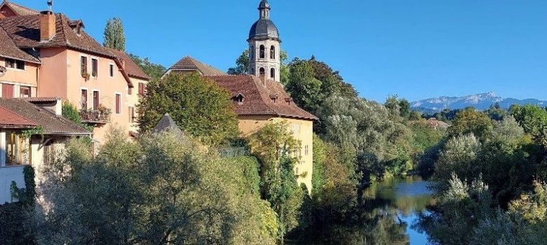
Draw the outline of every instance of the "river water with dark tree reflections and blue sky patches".
[[[427,244],[414,230],[418,216],[432,204],[428,182],[407,177],[374,183],[345,204],[313,210],[311,225],[294,232],[287,244]]]

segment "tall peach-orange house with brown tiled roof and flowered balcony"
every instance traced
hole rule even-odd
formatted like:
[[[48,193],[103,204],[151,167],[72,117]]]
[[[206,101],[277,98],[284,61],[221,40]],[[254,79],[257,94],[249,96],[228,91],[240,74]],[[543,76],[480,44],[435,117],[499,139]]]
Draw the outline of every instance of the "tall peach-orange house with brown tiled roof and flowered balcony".
[[[0,9],[17,9],[13,4],[3,3]],[[0,18],[0,43],[11,43],[9,46],[20,55],[3,55],[8,52],[0,47],[0,66],[13,66],[6,68],[0,78],[0,96],[28,94],[70,102],[81,111],[83,122],[93,125],[97,145],[102,144],[111,125],[126,130],[128,137],[134,136],[135,107],[149,77],[128,55],[104,48],[84,28],[83,21],[51,11],[27,11]],[[18,69],[19,64],[25,69]],[[6,89],[4,84],[8,84]]]

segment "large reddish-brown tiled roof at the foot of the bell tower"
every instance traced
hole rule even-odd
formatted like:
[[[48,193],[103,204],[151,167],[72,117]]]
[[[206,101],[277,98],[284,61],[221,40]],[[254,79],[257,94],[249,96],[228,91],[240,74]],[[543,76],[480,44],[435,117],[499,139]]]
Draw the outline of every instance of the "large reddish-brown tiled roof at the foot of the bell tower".
[[[316,120],[316,116],[300,109],[285,92],[281,83],[266,80],[266,84],[256,76],[205,76],[215,80],[231,92],[233,97],[243,95],[243,103],[234,99],[234,109],[239,116],[270,115],[285,118]],[[275,99],[275,101],[274,101]]]

